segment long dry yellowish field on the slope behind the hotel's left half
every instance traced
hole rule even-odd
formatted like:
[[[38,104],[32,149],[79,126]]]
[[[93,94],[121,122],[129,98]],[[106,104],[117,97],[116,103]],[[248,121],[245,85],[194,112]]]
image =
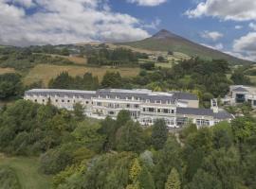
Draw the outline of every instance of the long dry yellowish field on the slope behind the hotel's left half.
[[[139,68],[111,68],[111,67],[85,67],[85,66],[73,66],[73,65],[49,65],[39,64],[32,68],[27,76],[24,78],[24,83],[29,85],[36,81],[43,81],[43,84],[47,86],[51,78],[57,77],[62,72],[68,72],[70,76],[83,76],[84,73],[92,73],[93,76],[99,77],[100,81],[104,74],[109,72],[119,72],[121,77],[135,77],[139,73]]]

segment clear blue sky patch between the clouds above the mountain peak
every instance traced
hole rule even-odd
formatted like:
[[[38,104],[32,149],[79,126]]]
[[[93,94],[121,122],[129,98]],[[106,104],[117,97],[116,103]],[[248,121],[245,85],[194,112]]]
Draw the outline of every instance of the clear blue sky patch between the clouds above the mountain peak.
[[[245,36],[251,30],[249,20],[244,22],[224,21],[219,17],[211,16],[189,18],[185,14],[186,11],[188,9],[195,9],[197,5],[198,1],[194,0],[167,0],[165,3],[154,7],[135,6],[125,1],[111,1],[112,9],[131,14],[142,22],[149,23],[159,20],[159,25],[156,28],[147,28],[150,34],[154,34],[158,29],[166,28],[196,43],[203,43],[212,47],[223,46],[223,48],[220,48],[223,51],[231,50],[233,41]],[[205,32],[213,31],[221,33],[223,37],[212,40],[210,36],[207,38],[204,35]]]

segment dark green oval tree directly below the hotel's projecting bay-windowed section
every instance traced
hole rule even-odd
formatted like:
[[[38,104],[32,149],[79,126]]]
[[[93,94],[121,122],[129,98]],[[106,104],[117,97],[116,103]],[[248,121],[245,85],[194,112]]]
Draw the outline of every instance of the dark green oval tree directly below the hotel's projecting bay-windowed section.
[[[168,137],[168,129],[163,119],[158,119],[155,121],[152,130],[152,145],[155,149],[161,149]]]

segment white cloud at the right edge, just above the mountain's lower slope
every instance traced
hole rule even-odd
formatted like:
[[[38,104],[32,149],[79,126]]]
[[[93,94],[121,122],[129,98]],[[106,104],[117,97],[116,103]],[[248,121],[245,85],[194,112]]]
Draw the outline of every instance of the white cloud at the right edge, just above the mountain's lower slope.
[[[233,52],[240,54],[244,59],[256,60],[256,32],[249,32],[246,36],[235,40]]]

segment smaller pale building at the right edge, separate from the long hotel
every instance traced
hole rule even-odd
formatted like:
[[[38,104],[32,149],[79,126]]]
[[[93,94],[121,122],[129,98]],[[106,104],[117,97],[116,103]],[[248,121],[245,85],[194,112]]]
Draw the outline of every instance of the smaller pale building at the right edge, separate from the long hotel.
[[[247,102],[256,109],[256,87],[231,85],[229,94],[222,99],[222,102],[230,106]]]

